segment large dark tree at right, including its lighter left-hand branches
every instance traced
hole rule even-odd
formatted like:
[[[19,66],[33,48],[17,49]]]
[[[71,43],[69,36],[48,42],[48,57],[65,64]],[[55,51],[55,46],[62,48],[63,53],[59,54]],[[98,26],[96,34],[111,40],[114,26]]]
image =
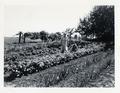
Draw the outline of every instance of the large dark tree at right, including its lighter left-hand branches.
[[[114,6],[96,6],[89,16],[80,20],[77,31],[109,42],[114,40]]]

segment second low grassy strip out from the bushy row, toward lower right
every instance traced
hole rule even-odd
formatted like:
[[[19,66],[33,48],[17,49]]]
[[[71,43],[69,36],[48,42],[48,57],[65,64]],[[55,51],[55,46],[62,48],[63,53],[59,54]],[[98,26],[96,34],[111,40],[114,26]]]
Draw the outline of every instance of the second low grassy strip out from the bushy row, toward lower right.
[[[68,80],[64,80],[54,87],[86,87],[91,80],[95,81],[100,73],[113,63],[113,56],[108,56],[100,62],[92,64],[81,72],[72,75]]]

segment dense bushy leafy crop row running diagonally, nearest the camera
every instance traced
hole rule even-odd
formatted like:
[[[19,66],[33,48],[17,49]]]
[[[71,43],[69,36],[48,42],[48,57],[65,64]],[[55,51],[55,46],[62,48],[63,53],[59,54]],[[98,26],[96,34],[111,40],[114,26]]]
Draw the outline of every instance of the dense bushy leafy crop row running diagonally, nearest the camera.
[[[87,49],[83,48],[73,53],[58,53],[24,59],[23,61],[11,61],[4,67],[5,80],[11,80],[22,75],[38,72],[42,69],[49,68],[58,64],[69,62],[70,60],[88,55],[103,49],[103,46],[94,46]]]

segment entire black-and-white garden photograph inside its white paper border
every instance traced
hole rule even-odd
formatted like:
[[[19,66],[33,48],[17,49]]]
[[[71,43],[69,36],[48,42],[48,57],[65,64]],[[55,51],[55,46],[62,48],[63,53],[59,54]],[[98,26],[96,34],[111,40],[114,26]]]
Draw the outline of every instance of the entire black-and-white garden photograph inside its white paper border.
[[[114,88],[115,5],[40,1],[4,6],[4,87]]]

